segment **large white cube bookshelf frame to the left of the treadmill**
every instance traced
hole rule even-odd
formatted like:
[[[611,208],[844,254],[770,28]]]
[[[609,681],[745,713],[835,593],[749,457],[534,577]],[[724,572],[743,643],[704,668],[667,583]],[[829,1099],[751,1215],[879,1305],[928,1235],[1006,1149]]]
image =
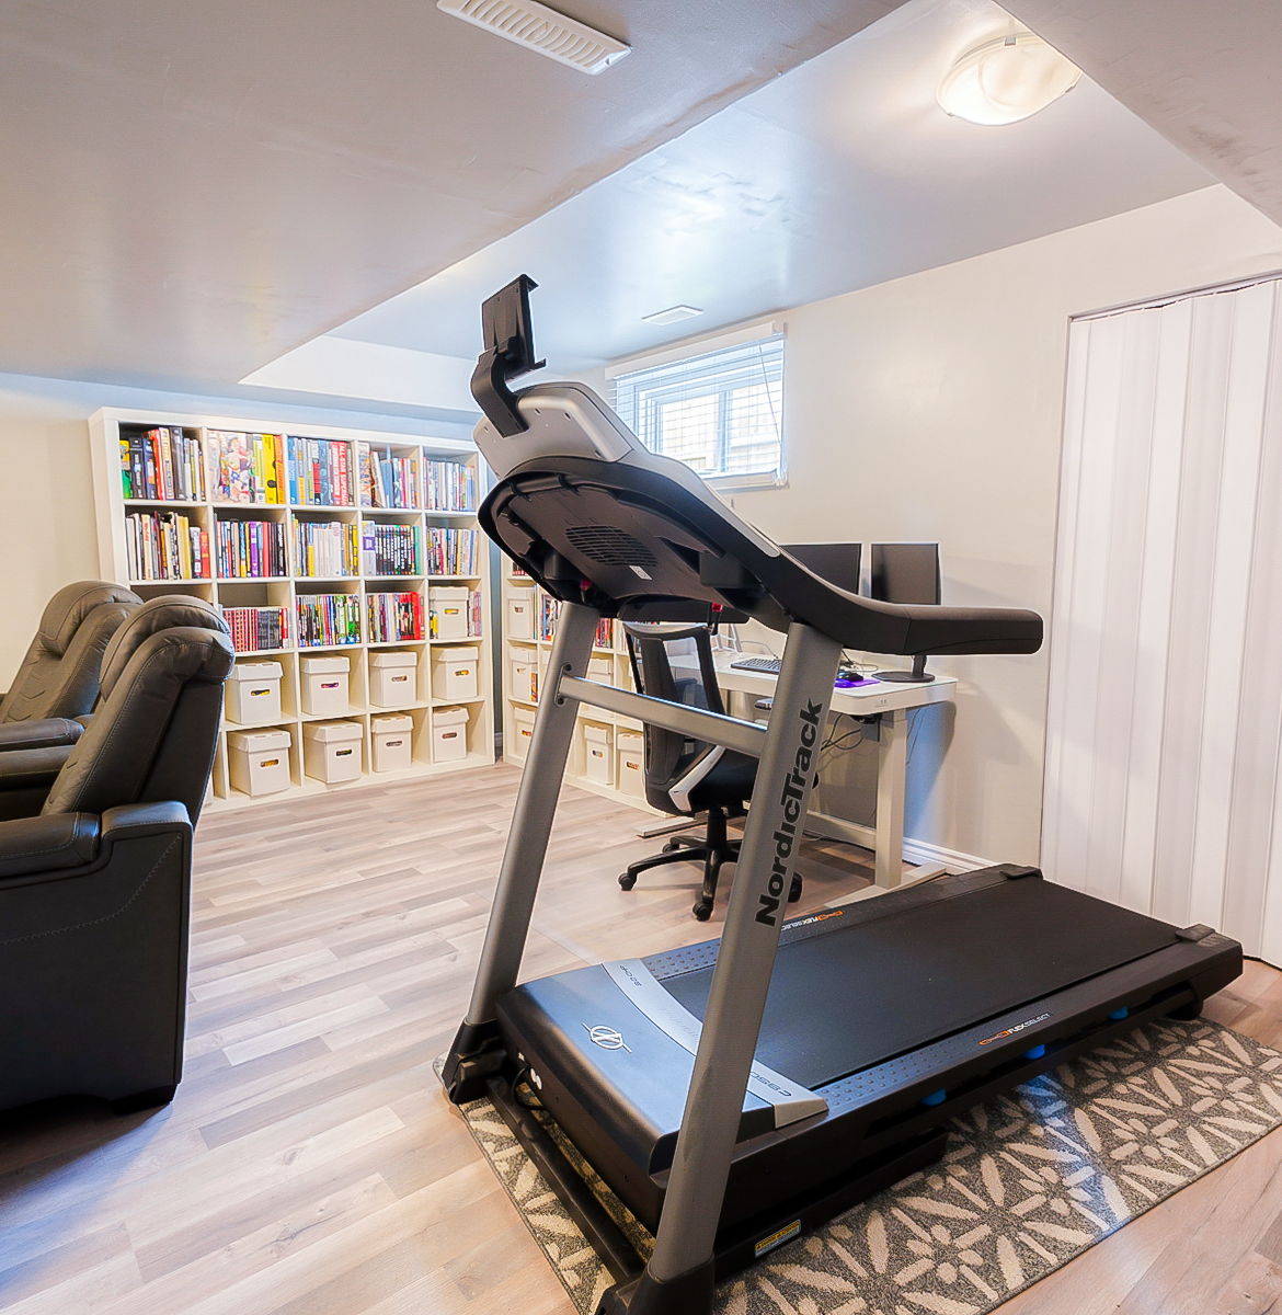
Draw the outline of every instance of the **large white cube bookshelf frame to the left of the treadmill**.
[[[147,497],[125,497],[121,466],[121,439],[138,435],[155,427],[180,429],[188,438],[201,442],[205,460],[204,497],[185,500],[160,500]],[[350,497],[339,502],[318,505],[316,502],[291,501],[296,490],[287,483],[280,489],[284,501],[247,502],[218,500],[213,494],[214,471],[209,469],[210,446],[209,430],[231,433],[270,434],[296,439],[323,441],[338,444],[327,451],[342,454],[346,459]],[[280,608],[288,617],[288,639],[281,648],[245,648],[237,651],[237,663],[276,661],[283,669],[281,676],[281,717],[276,721],[259,723],[239,723],[224,717],[218,736],[218,747],[213,771],[212,809],[237,807],[249,803],[268,803],[291,796],[346,790],[369,781],[391,781],[404,777],[425,776],[437,772],[454,772],[465,768],[489,765],[494,760],[494,713],[492,697],[493,655],[489,629],[489,546],[479,533],[475,508],[459,510],[455,508],[433,508],[427,505],[427,463],[433,460],[459,462],[473,473],[476,496],[483,492],[484,466],[476,448],[469,442],[450,438],[417,438],[402,434],[383,434],[368,430],[333,429],[313,425],[280,426],[256,419],[226,417],[172,416],[158,412],[133,412],[104,409],[89,421],[93,451],[95,500],[99,529],[99,555],[103,579],[129,584],[143,598],[164,593],[188,593],[206,598],[222,608]],[[363,494],[360,479],[360,458],[373,448],[385,456],[417,463],[417,476],[408,481],[404,496],[405,506],[363,505],[368,498]],[[130,556],[126,548],[126,515],[138,512],[175,512],[185,515],[189,522],[204,530],[209,540],[212,569],[193,577],[174,576],[168,579],[138,577],[129,569]],[[280,522],[285,542],[285,569],[271,576],[230,576],[220,573],[216,533],[220,522],[258,521]],[[327,522],[350,526],[355,531],[356,556],[350,555],[342,569],[329,576],[308,575],[300,567],[295,551],[295,526],[298,522]],[[405,575],[366,572],[362,554],[363,534],[373,531],[379,525],[398,525],[410,527],[417,538],[417,560],[412,563],[418,573]],[[477,530],[473,575],[431,573],[427,562],[427,543],[431,530]],[[480,596],[480,635],[463,639],[435,639],[430,630],[430,596],[434,588],[465,586]],[[422,615],[422,638],[371,640],[367,600],[375,593],[417,594]],[[320,643],[300,647],[298,601],[309,594],[348,594],[358,600],[359,642]],[[334,636],[337,638],[337,636]],[[431,655],[444,647],[475,647],[480,651],[477,661],[477,697],[469,700],[437,697],[433,689]],[[371,702],[373,654],[398,650],[414,658],[414,681],[406,692],[405,701],[396,705],[376,705]],[[343,714],[314,715],[302,709],[302,672],[300,659],[317,656],[348,658],[350,706]],[[409,697],[413,693],[413,697]],[[434,761],[433,759],[433,715],[444,707],[465,707],[467,756],[458,761]],[[371,718],[388,713],[406,713],[413,721],[412,765],[400,771],[373,772]],[[342,785],[326,785],[304,772],[302,727],[317,721],[351,721],[362,727],[362,776],[356,781]],[[249,729],[283,729],[291,732],[288,790],[250,797],[231,785],[227,769],[227,734]]]

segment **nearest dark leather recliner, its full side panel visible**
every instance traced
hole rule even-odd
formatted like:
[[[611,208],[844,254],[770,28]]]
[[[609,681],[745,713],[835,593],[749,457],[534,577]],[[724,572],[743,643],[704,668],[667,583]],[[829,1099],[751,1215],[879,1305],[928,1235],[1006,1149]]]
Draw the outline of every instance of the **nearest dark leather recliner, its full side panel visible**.
[[[0,822],[0,1109],[168,1101],[183,1063],[192,828],[233,650],[199,598],[117,631],[38,815]],[[5,753],[28,759],[43,751]]]

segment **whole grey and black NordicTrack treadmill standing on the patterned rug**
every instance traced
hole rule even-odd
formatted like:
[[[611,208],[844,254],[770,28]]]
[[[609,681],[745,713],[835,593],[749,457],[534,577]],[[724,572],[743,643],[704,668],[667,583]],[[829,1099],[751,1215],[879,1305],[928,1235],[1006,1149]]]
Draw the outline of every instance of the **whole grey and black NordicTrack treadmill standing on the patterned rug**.
[[[471,1003],[442,1073],[489,1097],[609,1266],[598,1315],[707,1315],[714,1283],[944,1153],[968,1106],[1160,1016],[1195,1018],[1241,947],[1003,864],[786,919],[843,648],[1031,654],[1022,609],[828,584],[538,368],[521,276],[483,306],[485,531],[563,604]],[[601,617],[788,635],[768,727],[585,679]],[[517,985],[580,705],[759,759],[719,940]],[[593,1193],[592,1172],[653,1235]]]

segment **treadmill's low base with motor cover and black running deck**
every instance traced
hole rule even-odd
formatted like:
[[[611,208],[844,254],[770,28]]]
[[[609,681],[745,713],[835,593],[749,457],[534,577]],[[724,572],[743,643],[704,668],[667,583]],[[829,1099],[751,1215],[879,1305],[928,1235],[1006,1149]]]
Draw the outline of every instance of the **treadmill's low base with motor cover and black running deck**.
[[[650,986],[702,1015],[717,949],[651,956]],[[877,1156],[999,1090],[1148,1019],[1190,1016],[1240,972],[1228,936],[1177,930],[1035,869],[987,868],[794,919],[757,1061],[822,1095],[827,1112],[780,1123],[768,1093],[748,1093],[722,1224],[761,1199],[856,1181]],[[579,968],[501,997],[498,1028],[509,1081],[530,1076],[561,1130],[653,1227],[694,1056],[646,1011],[648,998],[602,965]]]

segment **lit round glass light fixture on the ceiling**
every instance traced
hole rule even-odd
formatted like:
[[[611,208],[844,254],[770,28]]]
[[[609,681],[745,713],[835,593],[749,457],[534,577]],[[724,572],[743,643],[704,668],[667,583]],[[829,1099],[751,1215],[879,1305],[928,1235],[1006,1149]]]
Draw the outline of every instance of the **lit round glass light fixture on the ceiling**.
[[[944,113],[970,124],[1016,124],[1072,91],[1081,76],[1040,37],[1015,32],[968,50],[944,74],[935,99]]]

